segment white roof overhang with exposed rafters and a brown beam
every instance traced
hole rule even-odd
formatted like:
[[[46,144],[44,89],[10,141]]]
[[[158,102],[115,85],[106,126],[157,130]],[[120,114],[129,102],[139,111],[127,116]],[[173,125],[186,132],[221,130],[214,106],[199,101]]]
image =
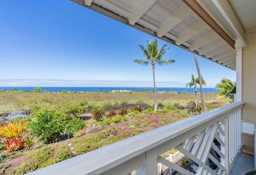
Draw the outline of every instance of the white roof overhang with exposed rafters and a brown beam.
[[[217,0],[70,1],[233,70],[245,47]]]

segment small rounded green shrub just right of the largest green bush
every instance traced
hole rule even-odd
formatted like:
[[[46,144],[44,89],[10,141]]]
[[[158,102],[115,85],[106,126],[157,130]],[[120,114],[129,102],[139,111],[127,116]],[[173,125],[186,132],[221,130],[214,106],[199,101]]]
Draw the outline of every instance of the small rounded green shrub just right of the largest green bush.
[[[82,119],[73,118],[72,120],[68,121],[64,129],[68,134],[73,134],[79,130],[82,130],[84,127],[86,127],[86,124]]]

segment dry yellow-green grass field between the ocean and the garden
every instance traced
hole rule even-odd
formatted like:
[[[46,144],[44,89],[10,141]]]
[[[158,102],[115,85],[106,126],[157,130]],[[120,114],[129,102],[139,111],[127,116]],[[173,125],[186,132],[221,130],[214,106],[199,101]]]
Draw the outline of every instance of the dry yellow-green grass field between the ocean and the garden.
[[[229,99],[217,99],[215,94],[207,92],[204,94],[206,103],[221,102],[229,103]],[[174,104],[186,106],[195,101],[195,94],[182,92],[174,93],[158,92],[157,102],[162,105],[173,106]],[[198,103],[201,102],[200,93],[197,94]],[[42,93],[10,91],[0,92],[0,113],[13,112],[15,110],[42,109],[42,108],[64,108],[72,105],[102,105],[118,106],[127,103],[146,103],[154,106],[153,92],[84,92],[84,93]]]

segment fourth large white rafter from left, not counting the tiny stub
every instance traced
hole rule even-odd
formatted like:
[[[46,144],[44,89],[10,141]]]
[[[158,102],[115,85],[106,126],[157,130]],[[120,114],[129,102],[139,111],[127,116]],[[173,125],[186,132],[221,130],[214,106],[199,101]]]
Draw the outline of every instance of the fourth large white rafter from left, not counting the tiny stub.
[[[216,39],[218,37],[218,34],[212,30],[208,32],[207,34],[203,35],[202,37],[198,38],[194,43],[189,47],[190,51],[194,51],[201,47],[202,45],[205,45],[206,43],[209,43],[210,41]]]

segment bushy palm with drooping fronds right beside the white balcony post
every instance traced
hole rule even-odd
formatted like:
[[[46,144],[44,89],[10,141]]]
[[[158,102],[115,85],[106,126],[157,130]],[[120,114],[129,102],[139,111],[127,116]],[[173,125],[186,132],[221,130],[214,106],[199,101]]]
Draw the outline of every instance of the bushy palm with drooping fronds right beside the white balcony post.
[[[230,79],[223,78],[221,83],[216,85],[218,92],[215,94],[216,98],[228,98],[234,102],[234,94],[236,93],[236,82],[234,83]]]

